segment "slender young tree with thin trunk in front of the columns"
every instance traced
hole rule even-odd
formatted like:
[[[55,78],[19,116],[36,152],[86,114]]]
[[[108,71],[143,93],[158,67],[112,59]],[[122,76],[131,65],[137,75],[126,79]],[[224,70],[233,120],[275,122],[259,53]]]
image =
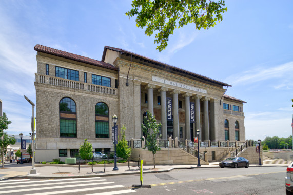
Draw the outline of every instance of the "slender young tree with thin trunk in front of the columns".
[[[153,154],[153,168],[155,168],[155,153],[160,151],[161,148],[157,144],[159,135],[159,128],[162,126],[161,123],[157,124],[155,117],[151,115],[150,111],[147,110],[147,115],[144,118],[144,124],[141,125],[145,134],[145,147]]]

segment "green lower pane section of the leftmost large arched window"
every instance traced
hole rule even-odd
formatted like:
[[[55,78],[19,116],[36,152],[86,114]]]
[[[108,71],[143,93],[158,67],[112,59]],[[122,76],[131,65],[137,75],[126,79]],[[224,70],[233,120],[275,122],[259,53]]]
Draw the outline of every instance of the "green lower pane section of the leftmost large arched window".
[[[76,138],[76,120],[60,119],[60,136]]]

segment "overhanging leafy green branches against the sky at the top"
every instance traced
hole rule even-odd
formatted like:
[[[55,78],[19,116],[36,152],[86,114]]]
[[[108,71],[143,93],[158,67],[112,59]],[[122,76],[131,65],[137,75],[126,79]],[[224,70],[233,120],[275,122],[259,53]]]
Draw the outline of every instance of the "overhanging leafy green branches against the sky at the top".
[[[169,36],[175,28],[194,23],[196,29],[208,29],[223,20],[225,1],[207,0],[133,0],[132,9],[125,14],[136,16],[136,26],[146,27],[145,34],[151,36],[154,31],[154,43],[157,49],[166,48]]]

